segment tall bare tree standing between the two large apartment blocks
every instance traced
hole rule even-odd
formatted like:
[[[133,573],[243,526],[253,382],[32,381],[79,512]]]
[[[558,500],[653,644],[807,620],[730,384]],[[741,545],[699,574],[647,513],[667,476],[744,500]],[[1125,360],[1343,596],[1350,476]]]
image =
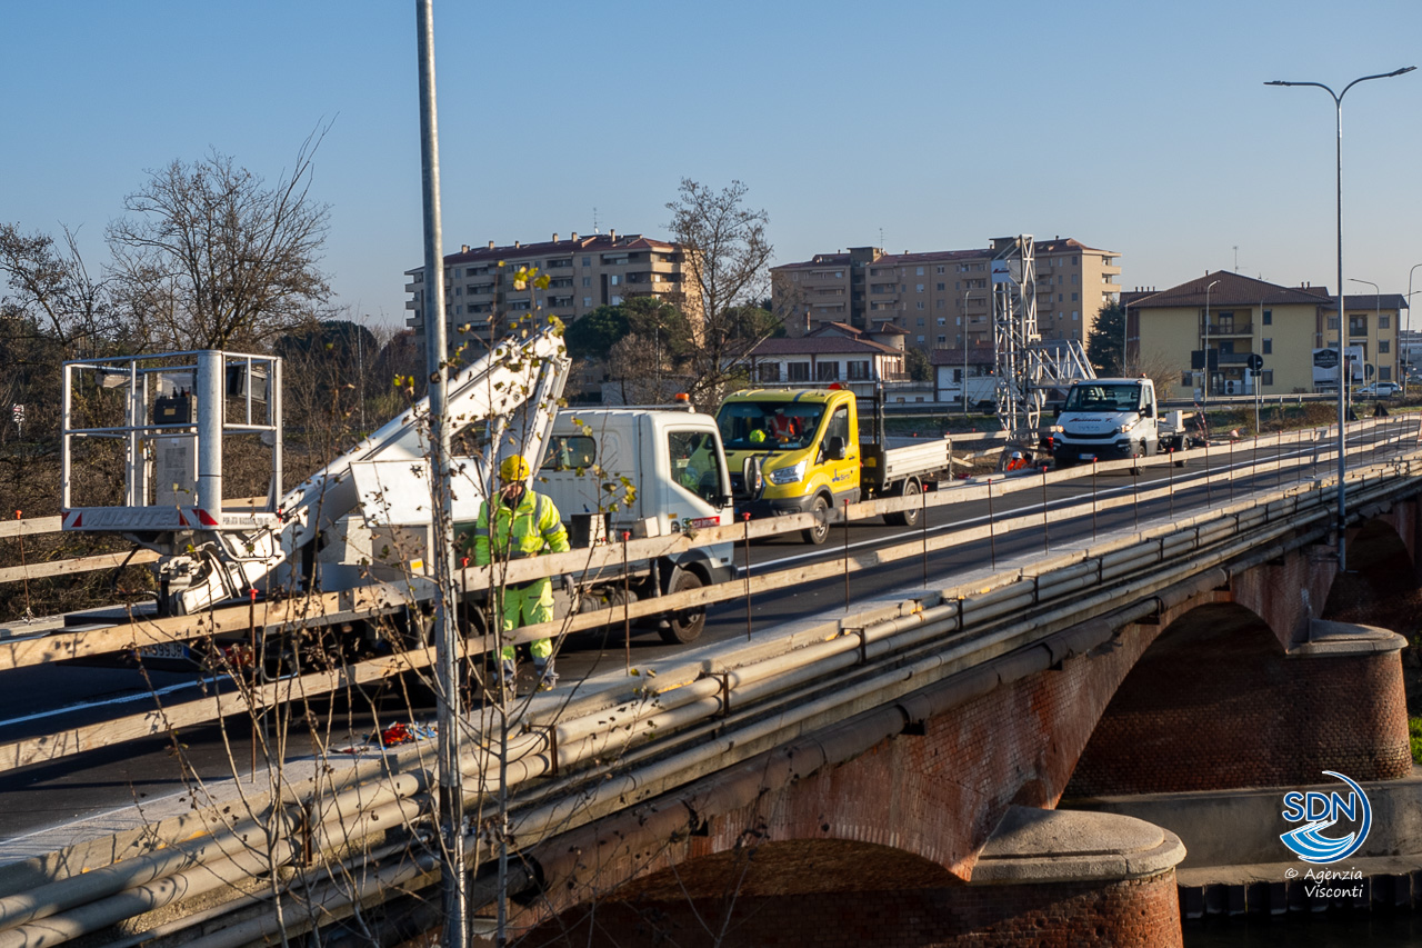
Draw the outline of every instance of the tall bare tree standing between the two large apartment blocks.
[[[667,204],[667,228],[690,273],[683,310],[691,317],[697,401],[718,401],[725,384],[744,373],[745,352],[774,332],[744,315],[766,293],[774,251],[765,238],[769,216],[744,206],[745,194],[739,181],[717,192],[683,178],[678,198]]]

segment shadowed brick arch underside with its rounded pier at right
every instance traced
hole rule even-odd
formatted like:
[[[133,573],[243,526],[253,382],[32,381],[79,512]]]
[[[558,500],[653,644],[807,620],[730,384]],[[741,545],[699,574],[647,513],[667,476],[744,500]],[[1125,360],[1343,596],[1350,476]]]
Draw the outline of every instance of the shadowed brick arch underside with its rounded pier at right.
[[[1196,605],[1121,682],[1064,796],[1300,786],[1330,769],[1405,776],[1396,651],[1334,645],[1284,649],[1254,611]]]

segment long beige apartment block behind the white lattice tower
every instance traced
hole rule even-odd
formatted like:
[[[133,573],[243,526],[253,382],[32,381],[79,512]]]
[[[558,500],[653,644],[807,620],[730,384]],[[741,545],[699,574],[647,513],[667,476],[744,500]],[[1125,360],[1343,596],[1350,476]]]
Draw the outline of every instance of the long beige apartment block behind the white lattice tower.
[[[889,322],[921,349],[993,344],[991,260],[985,249],[884,253],[859,246],[771,269],[775,312],[792,336],[828,323]],[[1116,299],[1119,253],[1071,238],[1035,242],[1037,326],[1042,339],[1082,344],[1101,307]]]

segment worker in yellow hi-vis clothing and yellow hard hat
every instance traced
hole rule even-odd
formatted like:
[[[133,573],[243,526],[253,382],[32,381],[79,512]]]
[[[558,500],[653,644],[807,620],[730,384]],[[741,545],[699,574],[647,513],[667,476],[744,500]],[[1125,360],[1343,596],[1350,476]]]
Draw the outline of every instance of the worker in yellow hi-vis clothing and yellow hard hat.
[[[474,527],[474,562],[486,567],[493,561],[525,559],[543,552],[567,552],[567,531],[559,520],[553,501],[528,487],[529,463],[518,454],[503,458],[499,464],[499,497],[491,525],[489,501],[479,504],[479,520]],[[522,625],[550,622],[553,619],[553,584],[547,576],[528,582],[509,582],[503,586],[505,632]],[[553,642],[538,639],[529,643],[533,666],[538,669],[539,688],[547,689],[557,683],[553,670]],[[518,672],[512,645],[505,645],[503,680],[513,693],[513,678]]]

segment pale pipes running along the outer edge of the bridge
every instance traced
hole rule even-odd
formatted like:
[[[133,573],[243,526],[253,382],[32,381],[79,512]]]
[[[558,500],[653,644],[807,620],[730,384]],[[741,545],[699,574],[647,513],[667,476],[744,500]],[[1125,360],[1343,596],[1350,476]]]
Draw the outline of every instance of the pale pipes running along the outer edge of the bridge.
[[[1416,454],[1351,473],[1351,505],[1358,510],[1398,491],[1416,491],[1419,481],[1422,457]],[[519,846],[533,846],[673,791],[708,770],[842,723],[869,700],[899,702],[910,717],[923,713],[913,710],[913,693],[927,685],[1045,643],[1130,602],[1167,595],[1190,576],[1227,568],[1240,557],[1270,558],[1313,542],[1327,531],[1332,495],[1327,480],[1310,481],[1072,551],[1031,569],[1012,569],[988,582],[833,619],[793,642],[741,646],[710,668],[673,662],[657,679],[641,679],[668,685],[589,697],[565,709],[560,719],[529,707],[526,729],[513,733],[508,747],[513,833]],[[1094,581],[1106,579],[1116,585],[1082,595]],[[1219,576],[1209,582],[1219,582]],[[1155,604],[1136,612],[1140,608],[1149,612]],[[1130,612],[1125,621],[1130,616],[1143,613]],[[479,787],[471,794],[471,807],[486,803],[498,789],[499,763],[491,754],[488,746],[466,744],[464,769]],[[323,854],[340,858],[353,847],[377,854],[415,850],[410,858],[374,863],[368,874],[351,870],[351,880],[326,883],[317,873],[301,890],[303,898],[307,905],[320,905],[328,918],[338,918],[380,887],[410,890],[432,881],[431,861],[419,851],[434,784],[429,754],[417,746],[348,774],[287,787],[280,800],[256,799],[247,809],[215,807],[152,827],[142,841],[85,846],[0,871],[0,948],[36,939],[57,944],[172,907],[195,891],[210,890],[213,884],[205,880],[279,867],[299,870],[313,860],[321,864]],[[196,840],[191,838],[195,826],[203,827]],[[280,830],[274,838],[269,836],[273,827]],[[162,848],[154,851],[155,844]],[[466,851],[471,860],[488,860],[489,840],[471,833]],[[346,865],[350,868],[350,861]],[[294,894],[290,885],[284,891]],[[247,944],[279,924],[263,897],[247,894],[223,905],[239,912],[232,924],[186,944]],[[203,920],[210,925],[222,911],[208,908]],[[294,907],[289,907],[289,932],[310,922],[293,920],[290,912]],[[181,921],[165,928],[173,925]]]

